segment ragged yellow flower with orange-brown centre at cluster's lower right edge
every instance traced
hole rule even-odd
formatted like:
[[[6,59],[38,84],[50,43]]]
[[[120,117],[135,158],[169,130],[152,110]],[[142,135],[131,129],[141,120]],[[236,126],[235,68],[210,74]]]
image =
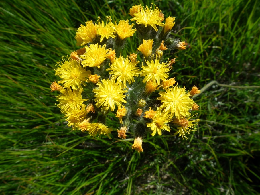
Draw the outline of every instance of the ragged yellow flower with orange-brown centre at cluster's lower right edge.
[[[194,115],[193,115],[194,116]],[[190,114],[188,115],[188,118],[182,118],[180,120],[178,119],[174,119],[173,120],[173,123],[175,125],[178,125],[180,127],[177,127],[178,131],[176,133],[174,133],[174,135],[177,135],[179,134],[179,137],[182,136],[182,139],[188,139],[185,135],[185,133],[187,134],[190,134],[190,131],[196,131],[196,128],[194,128],[195,125],[197,125],[198,123],[196,124],[193,124],[195,122],[199,122],[200,119],[195,119],[195,120],[191,120],[189,121],[189,119],[193,116],[190,116]],[[190,129],[192,128],[192,129]],[[184,137],[184,138],[183,138]]]

